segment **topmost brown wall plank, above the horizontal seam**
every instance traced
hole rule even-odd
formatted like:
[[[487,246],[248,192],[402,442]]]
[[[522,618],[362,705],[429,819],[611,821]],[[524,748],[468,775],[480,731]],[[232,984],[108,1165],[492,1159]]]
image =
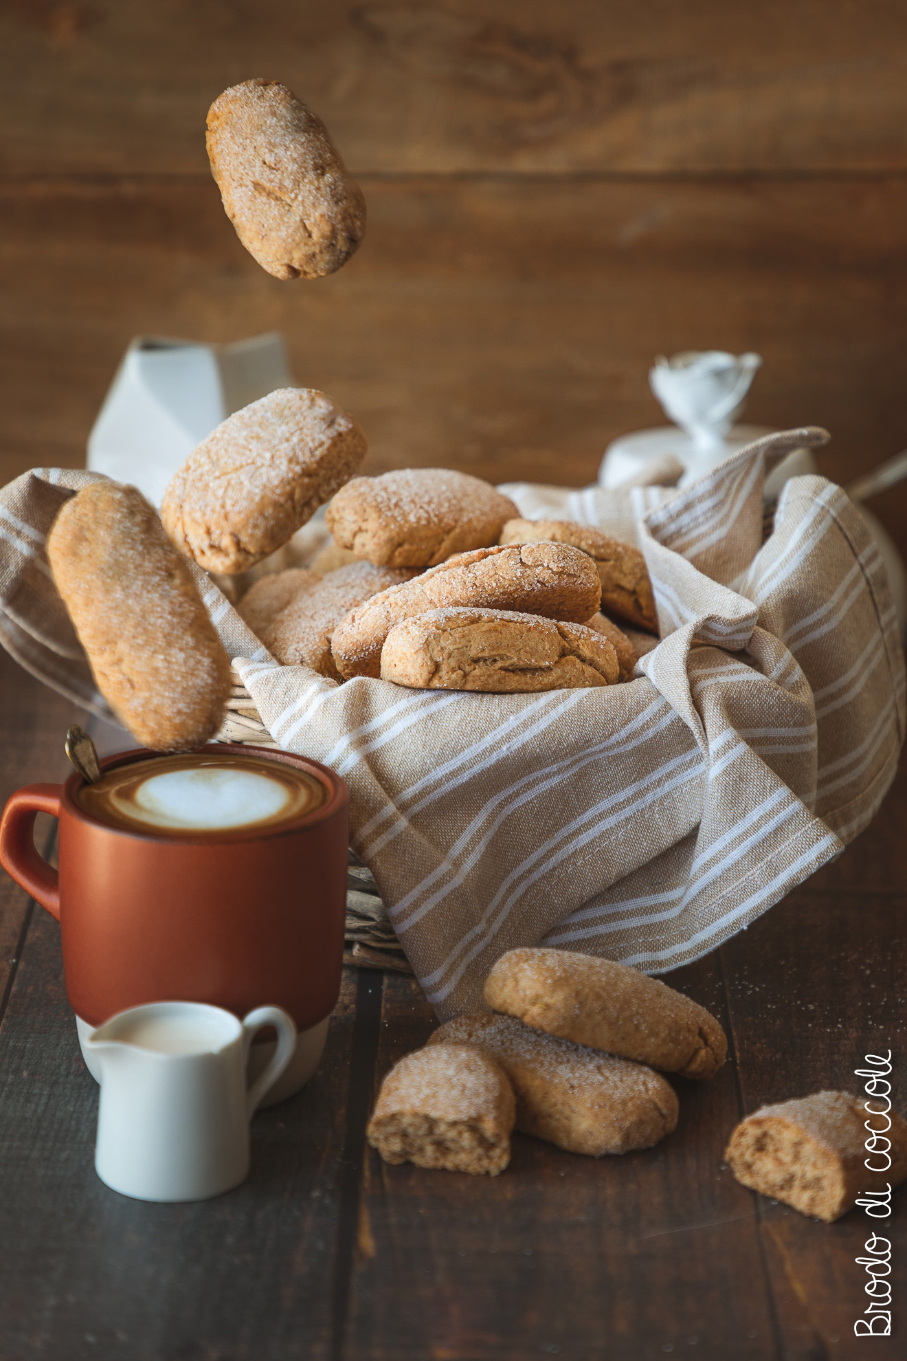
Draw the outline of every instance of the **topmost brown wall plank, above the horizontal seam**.
[[[284,80],[359,171],[900,167],[896,0],[7,0],[4,161],[194,173],[237,80]]]

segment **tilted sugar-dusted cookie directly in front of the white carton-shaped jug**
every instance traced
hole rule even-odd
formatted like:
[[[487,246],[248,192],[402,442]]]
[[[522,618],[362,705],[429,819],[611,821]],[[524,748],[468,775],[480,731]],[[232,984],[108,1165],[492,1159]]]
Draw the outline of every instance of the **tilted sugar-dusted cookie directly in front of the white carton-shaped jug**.
[[[364,456],[362,430],[324,392],[277,388],[193,449],[160,516],[179,553],[233,576],[287,543]]]

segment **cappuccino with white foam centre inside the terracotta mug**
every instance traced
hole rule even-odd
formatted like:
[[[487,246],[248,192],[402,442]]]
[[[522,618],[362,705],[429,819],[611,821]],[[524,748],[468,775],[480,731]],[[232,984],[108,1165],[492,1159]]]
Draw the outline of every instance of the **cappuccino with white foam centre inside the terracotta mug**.
[[[102,822],[166,837],[269,832],[326,799],[321,781],[298,766],[216,749],[135,761],[79,791],[86,813]]]

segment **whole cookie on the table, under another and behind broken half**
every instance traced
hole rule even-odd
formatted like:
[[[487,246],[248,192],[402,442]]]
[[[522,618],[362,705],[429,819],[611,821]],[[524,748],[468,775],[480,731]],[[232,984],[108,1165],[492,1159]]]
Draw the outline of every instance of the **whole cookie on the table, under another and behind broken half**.
[[[428,1044],[473,1044],[510,1078],[517,1130],[568,1153],[650,1149],[677,1124],[673,1087],[642,1063],[532,1030],[513,1017],[457,1017]]]

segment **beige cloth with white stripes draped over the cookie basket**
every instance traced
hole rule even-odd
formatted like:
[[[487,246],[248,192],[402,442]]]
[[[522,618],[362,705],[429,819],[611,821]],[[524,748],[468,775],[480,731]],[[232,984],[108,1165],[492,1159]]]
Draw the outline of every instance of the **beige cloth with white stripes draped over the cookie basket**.
[[[336,686],[273,661],[197,574],[276,742],[345,777],[354,849],[442,1017],[480,1007],[488,969],[517,945],[649,972],[695,960],[873,817],[904,735],[874,542],[839,487],[806,476],[786,485],[761,543],[767,467],[825,438],[774,436],[681,491],[522,489],[522,513],[635,529],[662,641],[623,686]],[[0,632],[37,675],[103,712],[41,555],[56,508],[86,480],[42,471],[0,495]]]

